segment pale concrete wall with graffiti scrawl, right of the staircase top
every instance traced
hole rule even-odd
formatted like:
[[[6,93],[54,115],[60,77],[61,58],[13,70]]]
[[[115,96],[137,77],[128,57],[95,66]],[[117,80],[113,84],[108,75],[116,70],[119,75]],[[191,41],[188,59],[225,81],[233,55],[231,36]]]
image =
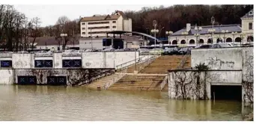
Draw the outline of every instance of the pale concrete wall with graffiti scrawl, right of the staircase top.
[[[205,63],[210,69],[243,69],[242,49],[192,49],[191,66],[199,63]]]

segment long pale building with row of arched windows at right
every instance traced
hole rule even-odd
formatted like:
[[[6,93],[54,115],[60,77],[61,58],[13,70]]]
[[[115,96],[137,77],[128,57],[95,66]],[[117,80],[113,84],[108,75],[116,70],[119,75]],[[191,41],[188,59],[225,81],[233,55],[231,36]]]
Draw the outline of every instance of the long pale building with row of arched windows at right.
[[[168,36],[168,44],[177,46],[198,46],[212,43],[253,43],[253,10],[246,13],[242,18],[242,25],[206,25],[191,26],[186,24],[186,28],[174,32]],[[199,35],[198,35],[199,34]]]

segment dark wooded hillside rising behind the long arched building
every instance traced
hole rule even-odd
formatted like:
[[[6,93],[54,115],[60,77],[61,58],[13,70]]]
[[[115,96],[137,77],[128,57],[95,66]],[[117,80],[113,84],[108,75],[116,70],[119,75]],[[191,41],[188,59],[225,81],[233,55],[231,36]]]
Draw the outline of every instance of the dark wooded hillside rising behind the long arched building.
[[[211,25],[211,17],[215,18],[215,25],[241,24],[241,17],[253,5],[173,5],[170,7],[142,7],[141,10],[128,10],[124,13],[132,19],[132,31],[150,34],[153,20],[158,23],[158,37],[165,37],[165,31],[178,31],[191,25]],[[164,28],[163,28],[164,27]],[[162,29],[162,30],[161,30]]]

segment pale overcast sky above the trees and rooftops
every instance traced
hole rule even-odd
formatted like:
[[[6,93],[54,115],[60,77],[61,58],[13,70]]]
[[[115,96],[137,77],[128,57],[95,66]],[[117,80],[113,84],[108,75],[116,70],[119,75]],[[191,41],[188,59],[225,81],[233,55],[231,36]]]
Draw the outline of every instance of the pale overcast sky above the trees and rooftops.
[[[41,26],[46,25],[54,25],[57,21],[59,16],[67,16],[71,20],[72,19],[78,19],[79,16],[92,16],[94,14],[110,14],[114,12],[115,10],[141,10],[141,7],[159,7],[160,4],[150,4],[150,5],[126,5],[126,4],[120,4],[120,5],[57,5],[57,4],[50,4],[50,5],[14,5],[16,10],[18,10],[21,13],[25,13],[25,16],[28,17],[28,19],[31,19],[33,17],[39,17],[41,19]],[[166,5],[171,6],[171,5]]]

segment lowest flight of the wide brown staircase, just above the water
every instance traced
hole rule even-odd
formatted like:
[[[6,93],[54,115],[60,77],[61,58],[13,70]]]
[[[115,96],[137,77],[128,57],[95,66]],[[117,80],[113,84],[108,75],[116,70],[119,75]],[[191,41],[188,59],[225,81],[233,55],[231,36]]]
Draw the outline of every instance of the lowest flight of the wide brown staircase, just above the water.
[[[165,75],[125,75],[109,90],[160,90]]]

